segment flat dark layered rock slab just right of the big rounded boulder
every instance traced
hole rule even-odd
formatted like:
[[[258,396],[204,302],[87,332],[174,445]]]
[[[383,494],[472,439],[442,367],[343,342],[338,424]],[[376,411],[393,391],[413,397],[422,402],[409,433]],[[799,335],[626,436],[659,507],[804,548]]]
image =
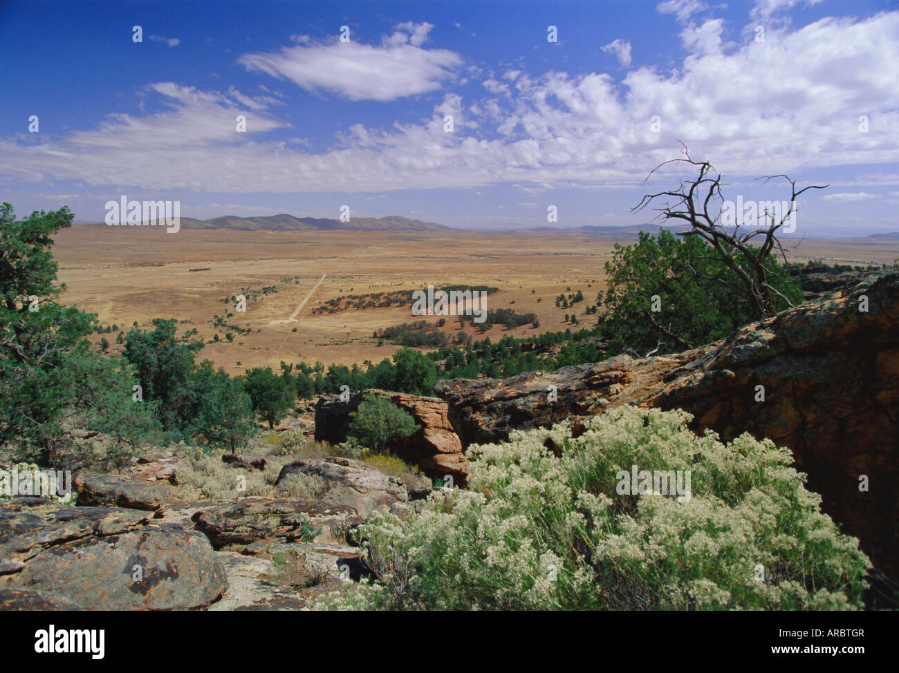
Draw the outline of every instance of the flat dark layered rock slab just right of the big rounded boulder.
[[[200,509],[192,519],[216,549],[275,538],[306,539],[310,528],[345,531],[362,522],[355,509],[342,505],[271,498],[219,502]]]

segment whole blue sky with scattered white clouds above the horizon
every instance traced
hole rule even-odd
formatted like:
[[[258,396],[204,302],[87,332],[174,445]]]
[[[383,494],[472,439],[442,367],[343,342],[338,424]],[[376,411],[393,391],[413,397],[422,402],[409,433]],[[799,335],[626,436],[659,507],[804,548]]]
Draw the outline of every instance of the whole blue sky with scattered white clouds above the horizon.
[[[895,0],[7,1],[0,65],[20,217],[634,225],[686,146],[734,201],[827,184],[797,235],[899,231]]]

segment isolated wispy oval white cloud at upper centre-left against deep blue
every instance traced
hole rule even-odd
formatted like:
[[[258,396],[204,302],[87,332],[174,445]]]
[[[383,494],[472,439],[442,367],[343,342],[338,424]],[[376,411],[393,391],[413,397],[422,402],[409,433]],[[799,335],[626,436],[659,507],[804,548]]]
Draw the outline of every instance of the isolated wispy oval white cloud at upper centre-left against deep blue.
[[[237,61],[251,72],[310,91],[333,92],[351,101],[393,101],[439,89],[462,65],[452,51],[421,48],[431,29],[430,23],[405,22],[377,47],[334,41],[244,54]]]

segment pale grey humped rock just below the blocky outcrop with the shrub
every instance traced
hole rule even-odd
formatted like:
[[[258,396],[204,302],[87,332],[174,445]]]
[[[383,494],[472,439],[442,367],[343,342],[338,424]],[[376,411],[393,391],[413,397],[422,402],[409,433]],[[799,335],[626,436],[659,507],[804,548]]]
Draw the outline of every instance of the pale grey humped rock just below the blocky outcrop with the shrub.
[[[328,505],[343,505],[367,517],[378,505],[408,500],[405,485],[396,477],[378,472],[352,458],[299,458],[284,465],[278,483],[288,474],[316,474],[325,479],[328,490],[322,497]]]

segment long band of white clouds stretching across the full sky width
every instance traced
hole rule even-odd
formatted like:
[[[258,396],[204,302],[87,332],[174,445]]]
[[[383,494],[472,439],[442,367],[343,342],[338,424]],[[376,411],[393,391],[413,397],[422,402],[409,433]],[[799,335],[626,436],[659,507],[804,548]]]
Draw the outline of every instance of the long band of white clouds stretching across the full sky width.
[[[486,91],[463,105],[458,93],[448,92],[423,119],[386,129],[353,124],[317,151],[260,135],[289,126],[273,115],[271,96],[153,84],[149,94],[162,97],[165,111],[112,115],[94,130],[61,138],[0,140],[0,174],[22,182],[74,179],[218,193],[497,183],[524,193],[571,184],[618,189],[639,184],[655,164],[677,156],[678,139],[737,177],[899,163],[899,13],[827,18],[784,31],[778,40],[734,46],[720,44],[717,20],[708,24],[705,38],[690,42],[690,55],[673,72],[640,67],[621,82],[603,73],[507,73],[510,96]],[[332,50],[349,46],[298,49],[325,53],[330,62]],[[433,53],[411,43],[354,49]],[[384,86],[398,85],[388,78]],[[236,114],[247,115],[247,134],[234,132]],[[443,131],[445,114],[456,118],[454,133]],[[859,114],[871,120],[868,133],[859,133]],[[660,133],[651,128],[654,115],[662,120]],[[894,173],[891,167],[871,179],[895,184]],[[839,189],[865,193],[866,187]]]

